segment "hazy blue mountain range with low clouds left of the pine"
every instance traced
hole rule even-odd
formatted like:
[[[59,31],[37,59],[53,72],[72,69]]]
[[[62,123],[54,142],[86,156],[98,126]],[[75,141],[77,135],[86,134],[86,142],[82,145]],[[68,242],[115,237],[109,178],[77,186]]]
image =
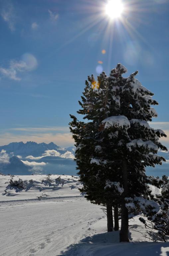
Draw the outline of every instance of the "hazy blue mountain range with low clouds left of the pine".
[[[12,142],[0,146],[0,172],[27,175],[31,173],[76,174],[74,147],[61,148],[50,142]]]

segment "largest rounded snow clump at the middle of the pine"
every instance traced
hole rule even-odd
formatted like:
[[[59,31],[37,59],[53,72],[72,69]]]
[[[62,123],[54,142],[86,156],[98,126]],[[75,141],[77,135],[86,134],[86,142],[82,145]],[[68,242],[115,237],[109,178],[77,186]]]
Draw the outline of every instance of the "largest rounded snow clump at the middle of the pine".
[[[102,121],[105,124],[105,128],[109,127],[130,127],[130,122],[126,116],[110,116]]]

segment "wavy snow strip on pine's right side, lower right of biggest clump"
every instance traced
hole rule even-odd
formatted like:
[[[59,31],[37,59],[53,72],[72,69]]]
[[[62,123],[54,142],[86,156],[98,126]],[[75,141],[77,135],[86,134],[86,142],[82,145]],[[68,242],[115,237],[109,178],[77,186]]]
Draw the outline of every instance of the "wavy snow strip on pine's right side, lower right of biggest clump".
[[[148,150],[154,150],[154,151],[158,151],[158,146],[155,145],[151,140],[148,141],[142,141],[141,139],[135,139],[135,140],[131,140],[129,143],[126,144],[127,148],[129,149],[129,151],[132,150],[132,147],[145,147]]]

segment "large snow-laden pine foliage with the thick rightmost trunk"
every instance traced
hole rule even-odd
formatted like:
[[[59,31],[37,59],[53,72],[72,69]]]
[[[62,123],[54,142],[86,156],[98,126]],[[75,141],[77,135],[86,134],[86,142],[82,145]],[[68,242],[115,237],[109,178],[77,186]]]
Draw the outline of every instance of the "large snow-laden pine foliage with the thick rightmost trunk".
[[[118,64],[107,77],[98,77],[100,88],[92,90],[94,77],[86,81],[82,110],[91,120],[79,122],[71,116],[71,132],[76,142],[76,162],[83,192],[93,203],[121,207],[122,225],[120,241],[128,240],[128,210],[135,197],[151,198],[147,184],[160,186],[160,180],[145,174],[146,166],[161,164],[165,159],[156,155],[159,142],[166,136],[161,130],[150,128],[147,121],[157,116],[151,105],[152,92],[135,79],[137,71],[128,78],[127,69]],[[126,198],[130,198],[130,204]],[[132,202],[131,202],[132,201]],[[127,205],[126,205],[127,203]]]

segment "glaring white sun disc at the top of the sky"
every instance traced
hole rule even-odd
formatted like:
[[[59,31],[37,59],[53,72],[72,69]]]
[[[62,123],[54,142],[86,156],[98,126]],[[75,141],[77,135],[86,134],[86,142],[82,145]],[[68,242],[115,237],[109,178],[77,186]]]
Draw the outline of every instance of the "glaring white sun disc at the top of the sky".
[[[110,19],[120,18],[124,11],[124,5],[121,0],[110,0],[105,6],[105,11]]]

